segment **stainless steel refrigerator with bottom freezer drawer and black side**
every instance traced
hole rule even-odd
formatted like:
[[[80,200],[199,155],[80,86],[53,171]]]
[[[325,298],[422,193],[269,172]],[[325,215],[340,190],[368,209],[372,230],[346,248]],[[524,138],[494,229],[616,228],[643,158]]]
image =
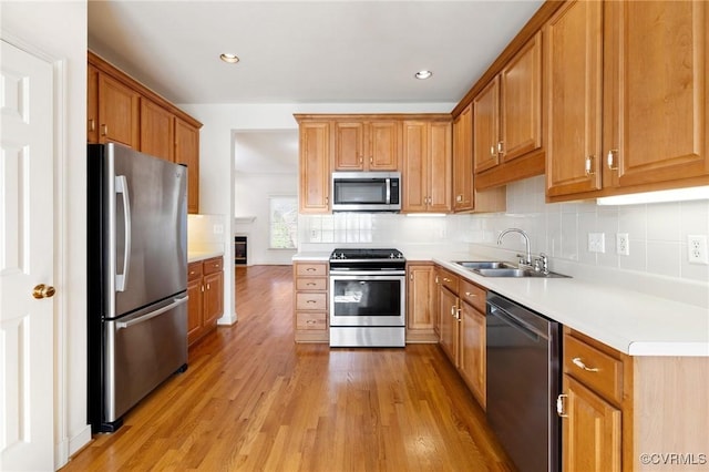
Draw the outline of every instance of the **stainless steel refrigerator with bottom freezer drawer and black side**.
[[[89,422],[123,414],[187,368],[187,168],[88,148]]]

